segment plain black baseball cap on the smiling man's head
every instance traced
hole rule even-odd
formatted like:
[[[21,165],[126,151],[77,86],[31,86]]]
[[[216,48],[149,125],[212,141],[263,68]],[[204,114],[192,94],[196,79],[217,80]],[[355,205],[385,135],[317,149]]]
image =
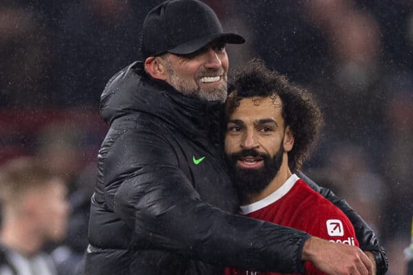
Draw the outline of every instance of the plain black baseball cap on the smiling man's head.
[[[191,54],[213,41],[242,44],[245,39],[222,31],[213,10],[198,0],[168,0],[145,17],[140,39],[142,56]]]

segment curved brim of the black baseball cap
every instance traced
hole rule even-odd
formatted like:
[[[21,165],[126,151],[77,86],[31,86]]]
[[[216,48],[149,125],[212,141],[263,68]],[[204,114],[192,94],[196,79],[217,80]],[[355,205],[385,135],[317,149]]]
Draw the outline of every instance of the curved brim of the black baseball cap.
[[[233,34],[233,33],[220,33],[220,34],[211,34],[206,37],[202,37],[200,39],[194,39],[191,41],[188,41],[187,43],[183,43],[181,45],[178,45],[177,47],[174,47],[171,50],[168,50],[167,52],[170,52],[171,54],[192,54],[193,52],[196,52],[202,47],[208,45],[209,43],[213,41],[222,41],[227,44],[242,44],[245,42],[244,37],[238,35],[238,34]]]

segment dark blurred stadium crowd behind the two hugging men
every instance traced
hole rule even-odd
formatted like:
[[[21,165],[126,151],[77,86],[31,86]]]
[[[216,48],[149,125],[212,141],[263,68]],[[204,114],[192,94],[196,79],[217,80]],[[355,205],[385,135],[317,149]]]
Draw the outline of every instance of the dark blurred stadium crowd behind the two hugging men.
[[[69,263],[87,245],[96,155],[107,131],[100,93],[113,74],[140,60],[142,21],[160,2],[0,3],[0,164],[36,157],[67,182],[67,237],[49,248],[60,274],[70,274]],[[405,274],[413,216],[413,2],[205,2],[224,30],[247,39],[227,47],[230,67],[262,58],[315,96],[326,126],[304,172],[374,228],[390,259],[388,274]]]

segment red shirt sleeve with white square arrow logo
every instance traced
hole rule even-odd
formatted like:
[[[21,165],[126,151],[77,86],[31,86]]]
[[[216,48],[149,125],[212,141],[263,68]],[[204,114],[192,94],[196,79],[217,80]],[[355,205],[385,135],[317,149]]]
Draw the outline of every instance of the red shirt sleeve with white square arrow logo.
[[[352,223],[346,214],[341,212],[336,206],[330,203],[323,204],[319,211],[313,212],[313,214],[310,214],[310,217],[310,223],[313,226],[310,226],[309,234],[335,243],[359,246]],[[307,275],[325,274],[310,262],[306,262],[305,269]]]

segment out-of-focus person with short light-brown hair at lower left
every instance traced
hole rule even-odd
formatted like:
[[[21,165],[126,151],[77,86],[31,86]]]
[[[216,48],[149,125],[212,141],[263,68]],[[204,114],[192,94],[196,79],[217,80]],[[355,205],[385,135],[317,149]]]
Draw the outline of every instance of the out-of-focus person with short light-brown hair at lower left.
[[[66,234],[69,206],[65,183],[34,159],[14,159],[1,167],[3,223],[0,274],[57,274],[46,241]]]

